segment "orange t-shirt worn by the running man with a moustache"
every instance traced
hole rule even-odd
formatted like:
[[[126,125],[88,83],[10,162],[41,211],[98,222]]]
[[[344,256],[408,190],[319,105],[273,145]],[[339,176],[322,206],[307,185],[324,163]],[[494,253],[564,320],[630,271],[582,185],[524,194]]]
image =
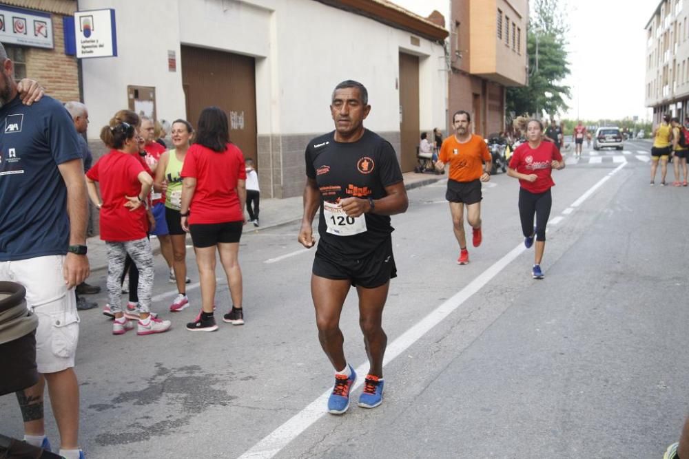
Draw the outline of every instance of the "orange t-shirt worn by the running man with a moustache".
[[[491,153],[481,136],[472,134],[466,143],[457,142],[455,136],[449,136],[442,141],[438,159],[450,164],[451,180],[472,182],[481,178],[483,162],[491,160]]]

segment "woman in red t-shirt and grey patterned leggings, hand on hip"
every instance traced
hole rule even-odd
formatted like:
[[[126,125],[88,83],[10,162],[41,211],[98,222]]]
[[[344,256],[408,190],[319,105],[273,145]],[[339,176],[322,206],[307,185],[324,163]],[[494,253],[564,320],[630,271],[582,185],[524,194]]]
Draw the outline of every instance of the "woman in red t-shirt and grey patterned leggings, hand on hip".
[[[125,334],[134,328],[134,323],[122,310],[120,290],[127,255],[139,271],[136,334],[166,332],[171,325],[150,313],[153,253],[146,237],[145,200],[153,178],[136,158],[138,125],[139,118],[133,111],[118,111],[101,129],[101,139],[110,147],[110,152],[86,173],[89,198],[101,211],[101,239],[107,248],[107,294],[110,312],[115,317],[113,334]],[[102,202],[96,182],[100,185]]]

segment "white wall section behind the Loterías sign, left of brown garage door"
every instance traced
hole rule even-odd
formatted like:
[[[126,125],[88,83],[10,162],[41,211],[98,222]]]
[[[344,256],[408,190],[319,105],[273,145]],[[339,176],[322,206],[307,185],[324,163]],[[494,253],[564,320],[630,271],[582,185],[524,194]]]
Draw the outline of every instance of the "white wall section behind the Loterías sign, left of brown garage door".
[[[98,138],[112,115],[129,106],[127,85],[156,88],[158,118],[184,118],[176,2],[79,0],[80,10],[102,8],[115,10],[118,56],[82,59],[88,137]],[[167,50],[176,52],[176,72],[167,70]]]

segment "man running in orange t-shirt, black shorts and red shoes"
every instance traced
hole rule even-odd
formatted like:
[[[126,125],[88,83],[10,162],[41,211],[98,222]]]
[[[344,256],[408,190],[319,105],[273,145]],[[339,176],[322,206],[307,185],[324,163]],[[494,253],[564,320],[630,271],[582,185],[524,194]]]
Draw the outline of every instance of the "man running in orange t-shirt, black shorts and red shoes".
[[[464,110],[455,112],[452,117],[455,135],[442,142],[440,158],[435,167],[442,171],[445,163],[450,164],[445,199],[450,202],[450,213],[455,237],[460,244],[460,257],[457,264],[469,263],[469,250],[466,250],[464,235],[464,205],[466,220],[473,228],[473,246],[481,245],[481,182],[491,180],[492,161],[486,142],[481,136],[471,134],[471,115]],[[483,162],[486,163],[485,169]]]

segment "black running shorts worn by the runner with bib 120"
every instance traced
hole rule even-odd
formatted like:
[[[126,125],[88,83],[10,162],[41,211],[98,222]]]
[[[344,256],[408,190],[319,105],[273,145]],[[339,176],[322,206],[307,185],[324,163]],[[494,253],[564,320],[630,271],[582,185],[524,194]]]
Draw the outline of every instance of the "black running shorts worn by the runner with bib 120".
[[[345,236],[343,236],[345,237]],[[319,248],[321,242],[318,243]],[[353,286],[363,288],[380,287],[397,277],[397,266],[392,254],[392,237],[388,237],[372,253],[363,259],[343,259],[325,255],[325,250],[316,250],[313,259],[313,274],[333,280],[349,280]]]

